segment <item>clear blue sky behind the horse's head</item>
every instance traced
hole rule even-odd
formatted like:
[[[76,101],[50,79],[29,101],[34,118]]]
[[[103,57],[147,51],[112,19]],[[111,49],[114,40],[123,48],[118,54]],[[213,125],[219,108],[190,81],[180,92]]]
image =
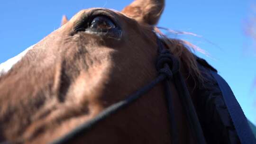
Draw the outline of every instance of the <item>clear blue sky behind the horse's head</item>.
[[[57,29],[64,14],[71,18],[79,10],[92,7],[121,10],[131,1],[0,0],[0,63]],[[252,0],[167,0],[158,26],[203,36],[178,37],[210,53],[211,58],[196,54],[218,69],[246,116],[256,124],[256,90],[252,90],[256,52],[243,32],[250,4]]]

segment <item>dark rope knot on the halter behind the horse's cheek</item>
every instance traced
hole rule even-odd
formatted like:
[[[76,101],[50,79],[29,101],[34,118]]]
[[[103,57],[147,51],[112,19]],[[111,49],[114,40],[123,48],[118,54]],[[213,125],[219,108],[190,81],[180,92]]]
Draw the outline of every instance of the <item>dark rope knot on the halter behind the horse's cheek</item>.
[[[179,69],[179,61],[168,50],[162,50],[156,60],[156,70],[172,79],[173,74],[179,72]]]

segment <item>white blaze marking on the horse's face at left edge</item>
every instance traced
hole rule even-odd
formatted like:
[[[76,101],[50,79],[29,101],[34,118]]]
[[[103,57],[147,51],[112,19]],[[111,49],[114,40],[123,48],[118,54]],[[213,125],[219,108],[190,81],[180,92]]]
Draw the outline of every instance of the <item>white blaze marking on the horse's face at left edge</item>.
[[[16,64],[18,63],[26,54],[27,52],[32,49],[34,47],[34,45],[28,47],[25,51],[23,51],[22,53],[18,54],[17,56],[7,60],[4,63],[0,64],[0,76],[9,72],[9,70]]]

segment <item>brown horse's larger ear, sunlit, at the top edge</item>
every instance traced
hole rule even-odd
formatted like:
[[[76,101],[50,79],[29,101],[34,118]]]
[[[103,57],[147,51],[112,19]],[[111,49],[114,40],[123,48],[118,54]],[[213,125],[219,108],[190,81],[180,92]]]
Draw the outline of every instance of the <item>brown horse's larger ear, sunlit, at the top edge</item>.
[[[135,0],[122,10],[122,13],[149,25],[157,24],[163,10],[165,0]]]

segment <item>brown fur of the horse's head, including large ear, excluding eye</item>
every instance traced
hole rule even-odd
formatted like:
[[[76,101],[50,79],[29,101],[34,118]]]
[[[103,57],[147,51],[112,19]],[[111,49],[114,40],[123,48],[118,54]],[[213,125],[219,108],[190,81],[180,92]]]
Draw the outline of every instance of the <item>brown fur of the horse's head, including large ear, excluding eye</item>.
[[[163,7],[164,0],[136,0],[122,13],[82,10],[37,43],[0,77],[0,142],[52,142],[155,79],[153,30]],[[143,11],[141,15],[138,9]],[[75,25],[91,13],[115,19],[122,29],[121,37],[74,33]],[[166,41],[182,62],[183,75],[198,78],[193,54],[179,40]],[[173,84],[171,89],[180,143],[194,143]],[[170,144],[168,125],[163,86],[159,84],[74,144]]]

